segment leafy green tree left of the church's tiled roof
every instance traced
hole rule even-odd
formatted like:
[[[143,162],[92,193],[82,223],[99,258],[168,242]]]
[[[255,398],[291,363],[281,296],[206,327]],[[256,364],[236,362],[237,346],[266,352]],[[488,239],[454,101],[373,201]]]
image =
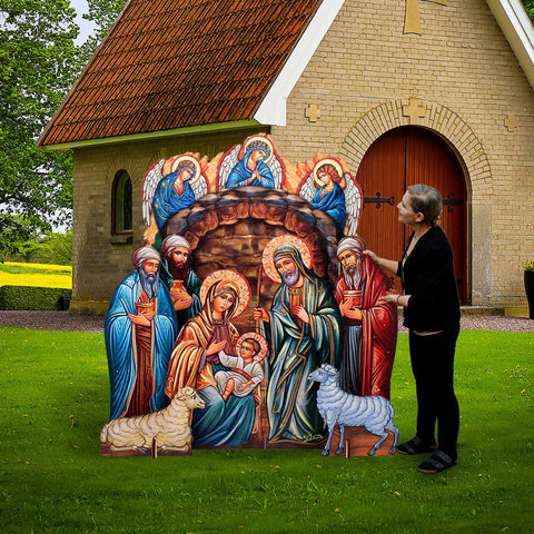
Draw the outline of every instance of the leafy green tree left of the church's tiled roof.
[[[34,144],[80,71],[68,0],[0,0],[0,207],[69,224],[71,152]]]

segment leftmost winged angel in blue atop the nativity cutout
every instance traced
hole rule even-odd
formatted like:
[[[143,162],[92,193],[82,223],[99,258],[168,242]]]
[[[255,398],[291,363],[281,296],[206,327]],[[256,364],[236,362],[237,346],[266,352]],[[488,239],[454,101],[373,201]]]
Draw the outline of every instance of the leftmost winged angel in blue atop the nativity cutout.
[[[164,238],[167,221],[207,192],[206,177],[196,156],[185,154],[160,159],[148,169],[142,182],[142,215],[147,226],[151,225],[150,215],[154,215]]]

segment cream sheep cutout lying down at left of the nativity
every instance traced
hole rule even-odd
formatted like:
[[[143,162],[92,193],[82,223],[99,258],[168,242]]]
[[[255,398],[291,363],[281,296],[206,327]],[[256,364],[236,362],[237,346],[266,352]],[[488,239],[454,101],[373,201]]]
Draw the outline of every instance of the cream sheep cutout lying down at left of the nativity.
[[[196,389],[180,388],[170,404],[152,414],[134,417],[119,417],[106,424],[100,433],[100,442],[113,452],[136,451],[152,455],[161,452],[188,453],[191,449],[191,409],[204,408],[206,403]]]

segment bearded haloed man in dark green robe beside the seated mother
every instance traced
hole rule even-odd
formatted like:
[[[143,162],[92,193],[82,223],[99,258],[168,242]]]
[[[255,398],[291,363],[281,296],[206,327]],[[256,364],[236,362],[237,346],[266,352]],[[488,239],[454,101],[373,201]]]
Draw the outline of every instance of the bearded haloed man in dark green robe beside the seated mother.
[[[265,254],[264,254],[265,260]],[[269,443],[314,444],[326,436],[317,411],[316,383],[307,379],[322,364],[338,364],[342,320],[326,283],[306,267],[297,246],[281,243],[271,261],[281,285],[270,310],[253,317],[267,325]],[[265,266],[265,263],[264,263]]]

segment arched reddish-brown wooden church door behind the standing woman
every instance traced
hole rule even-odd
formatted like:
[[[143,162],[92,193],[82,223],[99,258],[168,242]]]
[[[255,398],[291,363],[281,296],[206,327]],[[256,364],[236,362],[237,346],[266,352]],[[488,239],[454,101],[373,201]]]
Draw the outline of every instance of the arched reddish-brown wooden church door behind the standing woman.
[[[459,298],[467,304],[466,188],[462,167],[447,144],[423,128],[396,128],[370,146],[357,179],[365,197],[359,235],[385,258],[400,259],[409,237],[396,209],[406,188],[426,184],[442,194],[442,227],[453,247]]]

